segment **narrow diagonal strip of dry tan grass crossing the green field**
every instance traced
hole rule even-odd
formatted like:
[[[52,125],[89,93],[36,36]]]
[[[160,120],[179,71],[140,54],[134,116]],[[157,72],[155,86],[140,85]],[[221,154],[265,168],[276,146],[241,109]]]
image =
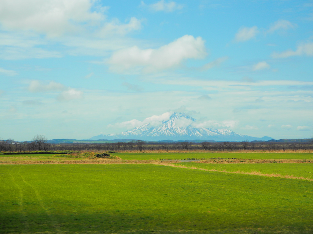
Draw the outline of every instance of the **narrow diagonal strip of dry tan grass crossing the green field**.
[[[160,165],[160,164],[159,164]],[[216,170],[216,169],[204,169],[204,168],[197,168],[197,167],[185,167],[185,166],[177,166],[174,164],[162,164],[164,166],[170,166],[170,167],[176,167],[176,168],[188,168],[188,169],[195,169],[195,170],[203,170],[203,171],[212,171],[212,172],[223,172],[223,173],[230,173],[230,174],[246,174],[246,175],[258,175],[258,176],[266,176],[266,177],[279,177],[279,178],[285,178],[285,179],[301,179],[301,180],[308,180],[308,181],[313,181],[313,179],[310,178],[304,178],[304,177],[297,177],[294,175],[281,175],[281,174],[264,174],[256,171],[252,172],[243,172],[243,171],[226,171],[225,169],[223,171],[221,170]]]

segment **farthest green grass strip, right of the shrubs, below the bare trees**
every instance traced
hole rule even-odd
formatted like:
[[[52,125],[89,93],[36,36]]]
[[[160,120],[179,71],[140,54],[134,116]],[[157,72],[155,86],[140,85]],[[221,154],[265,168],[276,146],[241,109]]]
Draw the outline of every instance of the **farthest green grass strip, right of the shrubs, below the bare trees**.
[[[113,153],[122,159],[250,158],[313,159],[313,153]]]

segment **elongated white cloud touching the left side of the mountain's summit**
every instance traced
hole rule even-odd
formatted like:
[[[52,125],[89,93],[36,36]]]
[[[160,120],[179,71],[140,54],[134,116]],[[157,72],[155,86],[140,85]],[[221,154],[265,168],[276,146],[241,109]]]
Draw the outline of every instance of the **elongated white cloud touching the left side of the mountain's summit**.
[[[158,126],[162,123],[162,121],[166,121],[170,119],[172,114],[173,112],[165,112],[162,115],[152,115],[151,117],[148,117],[144,119],[143,121],[132,119],[132,120],[124,121],[121,123],[116,123],[114,125],[109,124],[108,127],[119,127],[119,128],[131,129],[131,128],[139,127],[147,123],[150,123],[151,126]]]

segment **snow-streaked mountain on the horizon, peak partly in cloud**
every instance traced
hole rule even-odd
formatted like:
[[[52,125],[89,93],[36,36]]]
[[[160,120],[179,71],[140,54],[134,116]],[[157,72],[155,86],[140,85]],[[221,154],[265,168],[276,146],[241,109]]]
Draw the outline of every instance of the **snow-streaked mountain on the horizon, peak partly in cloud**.
[[[99,139],[140,139],[140,140],[215,140],[215,141],[243,141],[270,140],[270,137],[251,137],[237,134],[228,129],[196,128],[196,119],[185,113],[173,113],[159,126],[146,123],[140,127],[110,135],[98,135],[90,140]]]

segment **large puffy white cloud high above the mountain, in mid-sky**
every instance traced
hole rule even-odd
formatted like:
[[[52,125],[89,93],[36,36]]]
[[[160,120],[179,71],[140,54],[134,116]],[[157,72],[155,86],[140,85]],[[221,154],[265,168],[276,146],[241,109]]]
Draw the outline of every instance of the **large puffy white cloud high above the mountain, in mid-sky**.
[[[112,71],[122,72],[143,68],[146,72],[178,66],[186,59],[201,59],[206,56],[204,40],[185,35],[158,49],[140,49],[137,46],[113,53],[108,63]]]

